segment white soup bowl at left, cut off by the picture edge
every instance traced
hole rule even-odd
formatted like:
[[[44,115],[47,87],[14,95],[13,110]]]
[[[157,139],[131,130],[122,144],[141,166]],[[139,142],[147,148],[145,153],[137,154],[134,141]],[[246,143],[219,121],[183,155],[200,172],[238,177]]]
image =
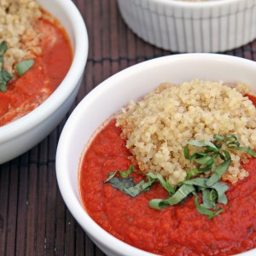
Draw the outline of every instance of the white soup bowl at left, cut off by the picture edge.
[[[55,92],[38,108],[0,127],[0,164],[14,159],[39,143],[61,122],[78,94],[88,55],[84,20],[71,0],[38,0],[61,21],[73,47],[73,62]]]

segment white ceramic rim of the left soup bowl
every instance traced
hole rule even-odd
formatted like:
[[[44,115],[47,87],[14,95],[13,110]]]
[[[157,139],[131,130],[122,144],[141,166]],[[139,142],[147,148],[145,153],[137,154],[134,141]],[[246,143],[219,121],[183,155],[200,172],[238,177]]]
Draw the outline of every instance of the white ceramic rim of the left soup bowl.
[[[73,24],[75,38],[73,49],[75,50],[73,52],[72,65],[65,79],[62,80],[61,84],[45,102],[20,119],[0,127],[0,143],[7,142],[10,138],[18,137],[23,132],[29,131],[34,126],[39,125],[51,113],[54,113],[55,109],[60,108],[61,103],[74,90],[73,84],[79,83],[80,76],[84,71],[88,55],[88,36],[84,20],[71,0],[55,0],[55,2],[62,6]],[[63,99],[65,100],[63,101]]]

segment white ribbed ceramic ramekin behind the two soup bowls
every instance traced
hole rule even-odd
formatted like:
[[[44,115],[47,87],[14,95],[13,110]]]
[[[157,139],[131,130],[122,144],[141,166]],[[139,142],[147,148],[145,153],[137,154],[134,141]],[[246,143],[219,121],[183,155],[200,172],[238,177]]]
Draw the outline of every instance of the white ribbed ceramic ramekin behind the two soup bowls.
[[[118,0],[140,38],[175,52],[220,52],[256,38],[256,0]]]

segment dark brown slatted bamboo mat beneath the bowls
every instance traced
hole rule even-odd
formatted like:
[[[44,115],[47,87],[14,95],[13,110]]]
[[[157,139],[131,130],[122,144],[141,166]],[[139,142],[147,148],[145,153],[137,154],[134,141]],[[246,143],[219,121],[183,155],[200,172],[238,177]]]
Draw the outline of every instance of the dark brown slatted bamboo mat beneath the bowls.
[[[115,0],[74,0],[90,40],[72,109],[49,137],[0,165],[0,255],[104,255],[65,206],[55,177],[55,150],[68,115],[97,84],[125,67],[174,53],[143,42],[125,26]],[[256,41],[224,52],[256,60]]]

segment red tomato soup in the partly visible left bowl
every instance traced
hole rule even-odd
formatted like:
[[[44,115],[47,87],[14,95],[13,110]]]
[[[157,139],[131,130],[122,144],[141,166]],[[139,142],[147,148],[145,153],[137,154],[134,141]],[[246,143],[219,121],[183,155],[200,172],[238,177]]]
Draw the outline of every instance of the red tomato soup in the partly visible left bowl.
[[[51,17],[41,18],[35,24],[43,32],[39,46],[42,54],[35,59],[33,67],[19,79],[0,91],[0,126],[37,108],[65,78],[73,59],[73,51],[67,33],[59,22]]]

